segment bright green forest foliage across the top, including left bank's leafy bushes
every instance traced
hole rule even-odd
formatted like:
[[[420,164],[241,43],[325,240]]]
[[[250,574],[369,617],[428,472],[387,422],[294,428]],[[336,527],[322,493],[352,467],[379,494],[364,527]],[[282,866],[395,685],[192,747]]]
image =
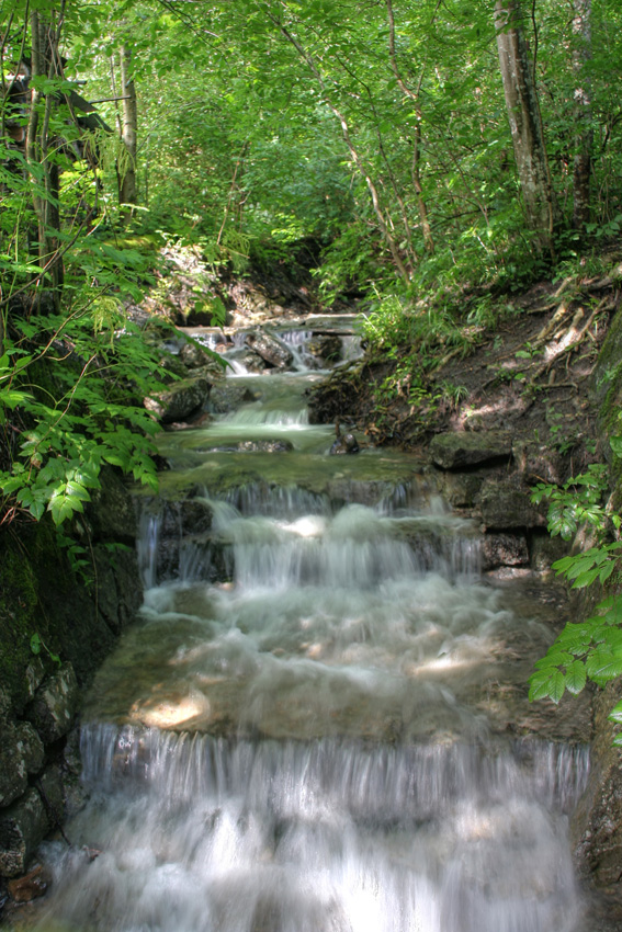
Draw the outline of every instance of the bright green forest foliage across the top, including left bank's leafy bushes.
[[[312,243],[378,345],[426,294],[487,326],[495,289],[589,263],[622,223],[621,45],[617,0],[4,0],[4,495],[60,523],[102,463],[155,481],[125,310],[162,243],[238,274]]]

